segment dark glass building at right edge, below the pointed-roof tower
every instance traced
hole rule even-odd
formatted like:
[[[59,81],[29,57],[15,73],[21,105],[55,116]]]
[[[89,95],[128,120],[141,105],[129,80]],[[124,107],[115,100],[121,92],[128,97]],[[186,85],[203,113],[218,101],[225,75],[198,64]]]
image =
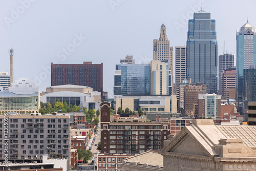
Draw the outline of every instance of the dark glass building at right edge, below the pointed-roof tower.
[[[256,101],[256,65],[244,70],[243,83],[243,107],[248,109],[249,101]]]

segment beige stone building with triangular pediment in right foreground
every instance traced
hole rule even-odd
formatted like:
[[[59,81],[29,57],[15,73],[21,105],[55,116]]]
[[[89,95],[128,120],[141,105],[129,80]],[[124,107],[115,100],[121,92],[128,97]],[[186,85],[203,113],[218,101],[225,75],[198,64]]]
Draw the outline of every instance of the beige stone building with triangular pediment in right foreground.
[[[255,170],[256,126],[193,120],[162,148],[163,170]]]

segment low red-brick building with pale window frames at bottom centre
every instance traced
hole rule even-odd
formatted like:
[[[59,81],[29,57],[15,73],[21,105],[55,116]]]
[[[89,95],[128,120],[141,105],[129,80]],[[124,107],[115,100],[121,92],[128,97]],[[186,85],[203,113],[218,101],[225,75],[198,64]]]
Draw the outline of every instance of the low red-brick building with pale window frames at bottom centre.
[[[129,157],[134,156],[133,154],[99,154],[97,155],[97,169],[98,171],[103,170],[122,170],[122,161]]]

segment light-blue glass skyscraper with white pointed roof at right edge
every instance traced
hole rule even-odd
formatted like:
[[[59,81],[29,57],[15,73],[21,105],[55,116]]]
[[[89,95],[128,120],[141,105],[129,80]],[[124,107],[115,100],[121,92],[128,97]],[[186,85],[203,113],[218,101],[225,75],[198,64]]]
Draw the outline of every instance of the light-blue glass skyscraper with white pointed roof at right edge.
[[[255,28],[247,22],[237,29],[237,99],[243,100],[243,70],[256,65],[256,33]]]

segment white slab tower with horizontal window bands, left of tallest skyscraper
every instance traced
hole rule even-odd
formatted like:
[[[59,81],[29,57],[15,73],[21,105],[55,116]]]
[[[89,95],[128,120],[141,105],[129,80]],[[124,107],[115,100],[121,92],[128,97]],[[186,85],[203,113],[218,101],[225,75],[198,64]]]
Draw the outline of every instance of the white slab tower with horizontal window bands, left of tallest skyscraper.
[[[175,92],[177,100],[180,100],[179,83],[186,80],[187,47],[175,47]]]

